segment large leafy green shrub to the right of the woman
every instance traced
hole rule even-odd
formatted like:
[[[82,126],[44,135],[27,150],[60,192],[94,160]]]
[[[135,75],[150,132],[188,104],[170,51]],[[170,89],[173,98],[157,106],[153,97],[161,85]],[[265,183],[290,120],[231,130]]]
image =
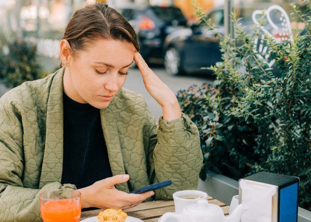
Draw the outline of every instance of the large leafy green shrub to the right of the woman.
[[[200,7],[196,14],[221,35]],[[311,210],[311,20],[300,18],[306,26],[295,31],[293,42],[265,36],[266,54],[280,71],[275,77],[267,60],[253,51],[253,40],[263,34],[264,13],[252,33],[243,31],[233,13],[235,39],[222,37],[223,62],[210,67],[215,82],[192,86],[177,97],[200,131],[201,179],[207,170],[234,179],[260,171],[296,176],[299,206]]]

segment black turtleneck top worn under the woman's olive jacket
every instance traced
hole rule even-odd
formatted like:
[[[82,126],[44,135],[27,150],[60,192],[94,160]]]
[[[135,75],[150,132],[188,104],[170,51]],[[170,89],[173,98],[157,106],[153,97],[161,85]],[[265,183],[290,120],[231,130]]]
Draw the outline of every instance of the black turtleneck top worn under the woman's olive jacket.
[[[62,184],[77,189],[112,177],[99,109],[63,93],[64,153]]]

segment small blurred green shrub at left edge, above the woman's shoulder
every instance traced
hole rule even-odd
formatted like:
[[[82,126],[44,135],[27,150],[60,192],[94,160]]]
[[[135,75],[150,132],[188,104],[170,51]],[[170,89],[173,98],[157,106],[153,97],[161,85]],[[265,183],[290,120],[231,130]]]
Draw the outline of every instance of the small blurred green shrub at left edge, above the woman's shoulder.
[[[42,70],[36,61],[36,45],[19,40],[10,44],[9,49],[10,53],[3,57],[1,69],[1,75],[8,86],[16,87],[41,77]]]

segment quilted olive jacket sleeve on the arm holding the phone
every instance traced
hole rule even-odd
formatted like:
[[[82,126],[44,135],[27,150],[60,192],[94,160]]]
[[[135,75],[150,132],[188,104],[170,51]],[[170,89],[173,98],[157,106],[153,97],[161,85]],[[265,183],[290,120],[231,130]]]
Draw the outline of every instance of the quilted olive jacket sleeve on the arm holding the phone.
[[[42,221],[39,194],[51,189],[75,189],[50,183],[41,189],[23,186],[23,126],[18,110],[0,103],[0,222]],[[34,163],[35,164],[35,163]],[[39,166],[34,166],[34,170]]]

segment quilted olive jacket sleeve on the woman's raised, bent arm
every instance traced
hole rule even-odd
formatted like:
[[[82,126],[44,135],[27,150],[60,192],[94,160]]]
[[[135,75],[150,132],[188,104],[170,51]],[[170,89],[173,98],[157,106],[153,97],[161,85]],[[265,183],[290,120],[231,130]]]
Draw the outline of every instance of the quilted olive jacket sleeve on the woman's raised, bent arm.
[[[160,117],[158,129],[153,117],[149,125],[149,181],[172,181],[155,191],[155,200],[170,200],[179,190],[195,190],[203,162],[197,126],[185,114],[172,121]]]

